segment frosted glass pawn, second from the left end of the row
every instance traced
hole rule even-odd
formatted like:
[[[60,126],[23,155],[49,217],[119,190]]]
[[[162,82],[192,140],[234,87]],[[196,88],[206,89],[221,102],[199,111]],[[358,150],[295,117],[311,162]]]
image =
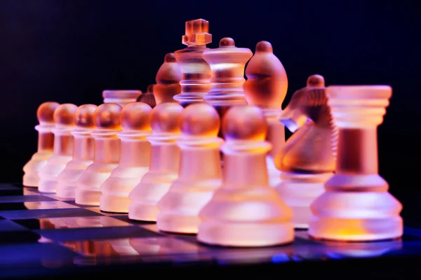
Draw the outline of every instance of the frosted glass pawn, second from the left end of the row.
[[[54,111],[54,151],[46,165],[39,170],[38,190],[41,193],[56,192],[58,174],[65,169],[67,162],[72,160],[73,135],[70,132],[74,129],[76,109],[74,104],[61,104]]]

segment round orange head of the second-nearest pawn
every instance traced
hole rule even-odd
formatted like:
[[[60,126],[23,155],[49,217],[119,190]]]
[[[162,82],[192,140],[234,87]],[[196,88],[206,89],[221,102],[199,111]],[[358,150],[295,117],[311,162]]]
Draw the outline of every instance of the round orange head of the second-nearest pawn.
[[[187,106],[181,114],[181,132],[198,137],[217,137],[220,117],[213,106],[200,102]]]

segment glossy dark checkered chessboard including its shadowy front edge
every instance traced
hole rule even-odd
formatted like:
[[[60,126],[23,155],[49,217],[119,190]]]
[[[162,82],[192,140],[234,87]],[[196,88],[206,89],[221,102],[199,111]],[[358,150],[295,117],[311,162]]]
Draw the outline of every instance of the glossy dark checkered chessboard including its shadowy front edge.
[[[152,270],[156,275],[180,273],[184,278],[189,276],[187,272],[196,277],[196,272],[213,273],[220,279],[223,275],[218,268],[252,276],[250,269],[255,267],[260,279],[268,279],[265,273],[274,269],[279,272],[268,274],[273,278],[286,272],[316,275],[319,271],[323,275],[326,264],[332,264],[330,272],[346,269],[349,276],[361,276],[361,269],[368,269],[373,279],[393,273],[402,276],[408,258],[420,256],[421,230],[416,228],[406,227],[401,239],[391,241],[315,241],[305,230],[296,230],[293,244],[222,248],[199,244],[195,235],[159,232],[156,223],[131,221],[126,214],[105,213],[99,207],[83,207],[55,194],[41,194],[36,188],[0,184],[1,278],[74,279],[78,275],[129,276]],[[420,272],[411,275],[414,273]]]

